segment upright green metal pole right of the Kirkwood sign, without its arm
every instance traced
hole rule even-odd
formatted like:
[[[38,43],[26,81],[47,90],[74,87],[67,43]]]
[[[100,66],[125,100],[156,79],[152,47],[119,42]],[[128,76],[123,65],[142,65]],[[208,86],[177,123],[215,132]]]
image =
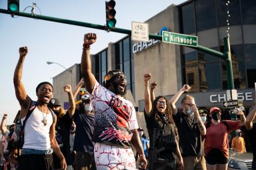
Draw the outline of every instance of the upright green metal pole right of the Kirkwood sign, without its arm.
[[[235,89],[235,87],[234,87],[234,81],[233,81],[233,69],[232,69],[229,37],[225,37],[223,40],[224,40],[224,50],[225,50],[225,56],[226,56],[227,88],[231,90],[231,89]]]

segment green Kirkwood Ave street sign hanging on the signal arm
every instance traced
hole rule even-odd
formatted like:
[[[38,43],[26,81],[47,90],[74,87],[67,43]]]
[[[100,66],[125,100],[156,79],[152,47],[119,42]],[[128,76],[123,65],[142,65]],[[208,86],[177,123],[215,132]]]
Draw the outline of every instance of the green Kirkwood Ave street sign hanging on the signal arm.
[[[182,34],[171,33],[167,31],[162,32],[162,41],[172,43],[172,44],[197,46],[197,36],[182,35]]]

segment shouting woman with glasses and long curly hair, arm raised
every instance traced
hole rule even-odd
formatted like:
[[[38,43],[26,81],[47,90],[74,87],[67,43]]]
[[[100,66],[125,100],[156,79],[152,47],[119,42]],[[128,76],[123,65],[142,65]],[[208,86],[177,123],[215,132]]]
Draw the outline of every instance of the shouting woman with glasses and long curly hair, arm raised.
[[[178,133],[173,121],[171,106],[165,96],[155,98],[149,92],[151,74],[144,75],[145,120],[149,132],[149,169],[183,169],[183,159],[177,142]],[[152,84],[155,88],[156,82]],[[155,98],[155,99],[154,99]],[[177,164],[175,155],[178,158]]]

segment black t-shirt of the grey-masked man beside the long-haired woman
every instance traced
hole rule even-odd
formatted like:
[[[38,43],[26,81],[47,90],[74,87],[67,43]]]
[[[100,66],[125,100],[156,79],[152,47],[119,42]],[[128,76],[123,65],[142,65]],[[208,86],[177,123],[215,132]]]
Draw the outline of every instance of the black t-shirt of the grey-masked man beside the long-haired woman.
[[[203,155],[203,143],[195,115],[178,112],[174,116],[179,131],[179,148],[183,157]]]

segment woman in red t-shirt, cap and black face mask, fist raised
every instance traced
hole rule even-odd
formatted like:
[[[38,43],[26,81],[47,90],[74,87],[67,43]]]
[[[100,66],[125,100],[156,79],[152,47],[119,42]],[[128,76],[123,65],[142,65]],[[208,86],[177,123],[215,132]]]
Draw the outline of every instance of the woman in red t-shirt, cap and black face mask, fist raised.
[[[239,129],[245,125],[245,115],[239,110],[241,120],[221,120],[221,110],[213,107],[210,110],[211,117],[205,122],[205,159],[207,170],[225,170],[229,161],[228,133],[233,129]]]

